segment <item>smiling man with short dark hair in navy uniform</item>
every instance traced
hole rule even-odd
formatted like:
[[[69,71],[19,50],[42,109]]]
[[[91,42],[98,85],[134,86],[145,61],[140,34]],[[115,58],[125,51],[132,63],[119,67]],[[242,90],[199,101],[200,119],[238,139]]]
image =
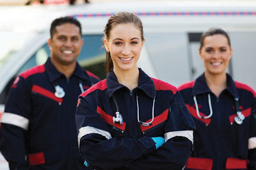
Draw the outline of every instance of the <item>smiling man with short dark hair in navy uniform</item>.
[[[81,24],[57,18],[51,25],[51,57],[14,81],[1,119],[0,150],[13,169],[85,169],[75,126],[78,96],[98,82],[76,59]]]

